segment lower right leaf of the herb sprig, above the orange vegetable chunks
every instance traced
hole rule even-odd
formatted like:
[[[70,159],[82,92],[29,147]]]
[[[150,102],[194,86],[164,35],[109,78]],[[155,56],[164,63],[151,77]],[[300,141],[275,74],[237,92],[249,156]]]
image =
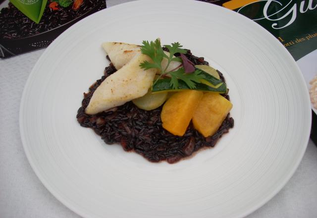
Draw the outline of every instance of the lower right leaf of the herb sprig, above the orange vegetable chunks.
[[[178,88],[178,82],[177,84],[175,83],[176,78],[184,81],[188,88],[194,89],[196,87],[195,82],[200,83],[200,81],[205,78],[205,75],[201,73],[202,71],[200,70],[196,70],[193,73],[185,73],[185,69],[183,67],[179,68],[176,71],[168,72],[168,74],[170,74],[172,78],[171,85],[173,86],[173,88],[176,87],[175,89]]]

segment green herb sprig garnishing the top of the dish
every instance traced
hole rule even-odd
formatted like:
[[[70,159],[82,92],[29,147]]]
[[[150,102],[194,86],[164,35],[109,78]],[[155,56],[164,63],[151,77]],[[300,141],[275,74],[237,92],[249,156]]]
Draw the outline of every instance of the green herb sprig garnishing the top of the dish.
[[[196,83],[200,83],[200,81],[205,78],[205,76],[201,74],[200,70],[195,70],[193,73],[185,73],[184,67],[178,68],[175,71],[166,72],[171,61],[182,62],[182,59],[179,57],[175,57],[174,54],[187,53],[185,49],[181,49],[182,46],[178,42],[172,43],[171,46],[164,45],[168,49],[169,55],[164,53],[159,39],[154,42],[143,41],[142,44],[143,45],[141,47],[141,53],[148,55],[152,59],[152,61],[144,61],[140,64],[140,67],[146,70],[152,68],[159,69],[159,77],[153,82],[153,86],[162,76],[165,76],[167,74],[171,77],[170,84],[173,89],[178,89],[178,80],[184,81],[190,89],[195,89]],[[167,59],[167,65],[165,68],[161,66],[163,58]]]

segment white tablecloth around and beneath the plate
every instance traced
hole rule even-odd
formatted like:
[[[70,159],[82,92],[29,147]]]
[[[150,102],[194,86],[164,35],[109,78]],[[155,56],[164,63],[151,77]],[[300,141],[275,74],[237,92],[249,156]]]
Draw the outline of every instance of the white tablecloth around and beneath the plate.
[[[131,0],[107,0],[113,6]],[[79,218],[44,187],[23,151],[19,133],[22,91],[44,50],[0,60],[0,218]],[[286,186],[248,218],[317,217],[317,147],[305,156]]]

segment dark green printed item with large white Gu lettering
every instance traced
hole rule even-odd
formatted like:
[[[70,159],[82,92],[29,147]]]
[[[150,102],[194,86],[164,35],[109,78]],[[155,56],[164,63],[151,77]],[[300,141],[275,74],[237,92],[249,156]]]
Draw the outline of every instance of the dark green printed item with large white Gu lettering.
[[[263,26],[295,60],[317,50],[317,0],[230,0],[222,6]]]

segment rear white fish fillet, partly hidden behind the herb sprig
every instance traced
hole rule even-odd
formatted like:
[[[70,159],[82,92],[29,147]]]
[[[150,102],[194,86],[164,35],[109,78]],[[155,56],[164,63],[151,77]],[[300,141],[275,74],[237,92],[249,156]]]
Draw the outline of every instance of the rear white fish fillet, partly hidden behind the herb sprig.
[[[103,48],[117,70],[127,64],[135,55],[141,53],[141,46],[126,43],[107,42],[103,43]],[[168,52],[164,53],[169,56]],[[166,58],[163,58],[161,65],[163,69],[166,67]],[[179,66],[181,66],[181,62],[171,61],[166,72],[177,69]]]

